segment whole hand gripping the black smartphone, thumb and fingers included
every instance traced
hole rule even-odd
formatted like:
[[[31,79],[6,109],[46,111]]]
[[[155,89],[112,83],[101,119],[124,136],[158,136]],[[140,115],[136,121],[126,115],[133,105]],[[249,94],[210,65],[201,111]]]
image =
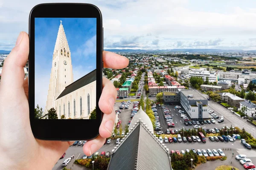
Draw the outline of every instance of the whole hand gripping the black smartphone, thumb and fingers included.
[[[29,54],[29,37],[21,32],[15,47],[4,61],[0,84],[0,166],[4,170],[51,170],[73,142],[42,141],[35,139],[29,122],[28,79],[24,70]],[[125,68],[126,57],[103,52],[104,67]],[[83,150],[91,155],[111,136],[115,113],[116,89],[103,79],[99,108],[104,113],[99,136],[84,144]],[[86,132],[84,132],[86,133]]]

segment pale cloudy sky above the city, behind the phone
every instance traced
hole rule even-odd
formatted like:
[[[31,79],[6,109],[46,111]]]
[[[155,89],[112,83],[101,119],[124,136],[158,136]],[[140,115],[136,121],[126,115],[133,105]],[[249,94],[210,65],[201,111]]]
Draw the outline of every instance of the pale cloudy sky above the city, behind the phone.
[[[55,0],[55,2],[70,2]],[[255,0],[76,0],[103,16],[104,49],[256,49]],[[29,12],[52,0],[0,0],[0,49],[28,32]]]

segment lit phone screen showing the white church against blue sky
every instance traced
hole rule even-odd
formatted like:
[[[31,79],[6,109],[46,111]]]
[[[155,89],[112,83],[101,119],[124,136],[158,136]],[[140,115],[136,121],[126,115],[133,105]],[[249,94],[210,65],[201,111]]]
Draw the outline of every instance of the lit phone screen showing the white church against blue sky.
[[[35,18],[35,119],[96,119],[96,18]]]

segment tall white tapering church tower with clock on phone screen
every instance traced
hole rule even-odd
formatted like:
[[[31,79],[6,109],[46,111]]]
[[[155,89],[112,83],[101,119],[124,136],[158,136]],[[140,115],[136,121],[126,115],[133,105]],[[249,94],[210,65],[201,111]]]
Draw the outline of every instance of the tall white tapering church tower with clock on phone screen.
[[[44,113],[55,108],[54,100],[61,94],[67,85],[73,83],[73,71],[71,64],[71,52],[67,43],[67,37],[62,25],[58,29],[58,35],[52,54],[52,69],[50,74],[49,90]]]

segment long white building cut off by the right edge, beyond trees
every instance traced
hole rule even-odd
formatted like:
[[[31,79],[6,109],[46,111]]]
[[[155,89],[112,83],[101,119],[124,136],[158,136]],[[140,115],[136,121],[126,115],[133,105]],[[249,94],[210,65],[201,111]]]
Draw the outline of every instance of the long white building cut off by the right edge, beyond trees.
[[[256,79],[256,73],[252,73],[251,71],[245,69],[243,71],[234,71],[231,70],[229,72],[218,72],[218,79],[227,79],[227,80],[231,80],[233,82],[238,82],[239,78],[241,78],[241,81],[245,84],[249,84],[250,81],[252,81],[253,79]],[[240,83],[241,84],[241,83]]]

